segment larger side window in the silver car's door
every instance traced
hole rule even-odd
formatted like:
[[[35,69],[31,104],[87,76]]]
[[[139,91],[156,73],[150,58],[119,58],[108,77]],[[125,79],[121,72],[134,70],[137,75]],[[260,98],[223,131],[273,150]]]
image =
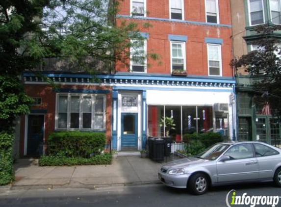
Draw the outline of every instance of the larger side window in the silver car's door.
[[[251,144],[239,144],[231,147],[225,155],[230,159],[246,159],[254,157],[254,152]]]

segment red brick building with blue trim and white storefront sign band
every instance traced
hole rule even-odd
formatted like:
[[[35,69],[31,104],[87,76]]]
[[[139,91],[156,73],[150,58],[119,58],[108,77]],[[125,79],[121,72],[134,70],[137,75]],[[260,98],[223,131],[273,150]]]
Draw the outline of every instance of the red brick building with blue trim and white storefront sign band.
[[[38,153],[54,130],[75,129],[106,132],[118,151],[140,150],[148,136],[166,134],[163,117],[175,120],[172,137],[214,131],[235,139],[230,0],[123,0],[119,9],[117,24],[138,23],[146,39],[137,50],[153,51],[160,61],[131,58],[129,69],[117,63],[114,74],[98,76],[101,82],[89,74],[46,73],[62,85],[57,90],[24,74],[38,104],[22,118],[21,155]]]

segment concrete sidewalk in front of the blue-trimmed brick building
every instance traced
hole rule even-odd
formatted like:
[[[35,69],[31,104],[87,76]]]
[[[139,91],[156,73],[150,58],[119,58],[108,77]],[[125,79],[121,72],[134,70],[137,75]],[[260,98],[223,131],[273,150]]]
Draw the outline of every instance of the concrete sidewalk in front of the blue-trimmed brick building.
[[[15,164],[17,181],[11,188],[97,188],[158,183],[157,172],[163,164],[140,156],[118,156],[111,165],[39,167],[36,159],[20,159]]]

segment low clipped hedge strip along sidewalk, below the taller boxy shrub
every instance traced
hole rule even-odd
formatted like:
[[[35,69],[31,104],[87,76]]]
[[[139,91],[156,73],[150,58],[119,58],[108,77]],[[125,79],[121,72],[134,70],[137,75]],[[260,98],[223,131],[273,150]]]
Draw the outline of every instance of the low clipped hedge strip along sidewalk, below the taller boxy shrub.
[[[111,164],[111,154],[95,155],[90,158],[41,156],[39,166],[107,165]]]

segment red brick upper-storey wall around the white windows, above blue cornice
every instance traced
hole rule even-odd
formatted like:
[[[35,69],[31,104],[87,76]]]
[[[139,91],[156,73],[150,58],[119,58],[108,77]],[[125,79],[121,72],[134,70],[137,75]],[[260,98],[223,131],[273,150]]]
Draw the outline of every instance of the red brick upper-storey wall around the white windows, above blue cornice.
[[[205,23],[205,0],[184,0],[184,20],[187,22],[172,22],[147,19],[129,19],[121,17],[117,20],[117,24],[124,20],[134,21],[138,23],[139,29],[149,33],[147,40],[147,51],[154,52],[161,56],[160,62],[148,60],[150,65],[147,69],[148,73],[171,73],[171,56],[170,56],[170,35],[184,35],[188,37],[186,42],[186,70],[188,75],[208,76],[207,63],[207,45],[205,38],[221,38],[222,44],[222,68],[223,76],[233,77],[233,70],[230,66],[232,57],[232,40],[231,27],[228,26],[210,26],[202,25]],[[130,14],[130,0],[120,2],[120,14]],[[219,18],[220,25],[231,25],[230,17],[230,1],[219,0]],[[147,17],[162,18],[169,20],[169,0],[147,1]],[[143,28],[143,24],[149,22],[153,25],[150,28]],[[197,23],[195,23],[197,22]],[[128,69],[117,65],[117,71],[128,72]]]

